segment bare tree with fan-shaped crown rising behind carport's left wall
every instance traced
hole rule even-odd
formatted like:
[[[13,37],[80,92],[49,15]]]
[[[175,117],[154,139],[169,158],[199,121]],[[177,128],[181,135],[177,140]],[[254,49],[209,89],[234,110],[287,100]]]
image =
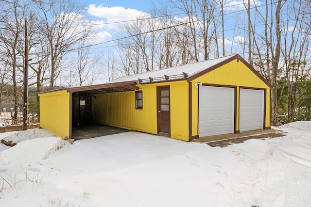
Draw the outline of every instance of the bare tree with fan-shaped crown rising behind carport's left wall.
[[[86,31],[91,25],[83,24],[85,16],[80,14],[79,8],[72,0],[49,0],[36,3],[37,24],[40,34],[48,43],[50,69],[50,88],[55,85],[55,80],[62,69],[68,65],[64,59],[76,43],[86,38]]]

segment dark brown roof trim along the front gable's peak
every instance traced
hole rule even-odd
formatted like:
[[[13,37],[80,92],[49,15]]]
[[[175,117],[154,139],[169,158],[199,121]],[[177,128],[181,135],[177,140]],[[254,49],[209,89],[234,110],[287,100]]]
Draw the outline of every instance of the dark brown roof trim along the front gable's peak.
[[[198,73],[196,73],[196,74],[194,74],[194,75],[188,77],[187,81],[190,82],[190,81],[192,81],[192,80],[194,80],[194,79],[196,79],[196,78],[199,78],[200,76],[203,76],[203,75],[209,73],[210,71],[215,70],[216,68],[219,68],[219,67],[221,67],[221,66],[223,66],[223,65],[225,65],[225,64],[227,64],[227,63],[230,63],[231,61],[234,61],[234,60],[239,60],[239,61],[241,61],[241,62],[242,62],[243,64],[245,64],[245,65],[260,79],[260,80],[262,80],[267,86],[269,86],[270,88],[273,88],[273,86],[271,85],[271,83],[270,83],[268,80],[264,79],[264,78],[259,74],[259,72],[257,72],[249,63],[247,63],[247,61],[245,61],[245,60],[242,58],[242,56],[239,55],[239,54],[236,54],[236,55],[234,55],[234,56],[232,56],[232,57],[226,59],[225,61],[223,61],[223,62],[221,62],[221,63],[219,63],[219,64],[215,64],[215,65],[213,65],[213,66],[211,66],[211,67],[209,67],[209,68],[207,68],[207,69],[205,69],[205,70],[203,70],[203,71],[200,71],[200,72],[198,72]]]

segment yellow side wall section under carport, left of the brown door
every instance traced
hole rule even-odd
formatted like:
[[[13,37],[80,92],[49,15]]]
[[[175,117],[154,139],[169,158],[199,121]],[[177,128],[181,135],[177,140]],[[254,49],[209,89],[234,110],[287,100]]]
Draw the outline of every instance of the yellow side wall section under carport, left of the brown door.
[[[142,91],[143,109],[135,109],[135,91],[96,95],[92,122],[156,134],[155,93],[148,87]]]

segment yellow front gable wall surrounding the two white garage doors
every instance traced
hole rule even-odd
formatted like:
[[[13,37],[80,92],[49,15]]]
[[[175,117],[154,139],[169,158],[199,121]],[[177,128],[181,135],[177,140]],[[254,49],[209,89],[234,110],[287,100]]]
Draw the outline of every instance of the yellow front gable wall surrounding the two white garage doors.
[[[256,76],[241,61],[231,61],[211,72],[192,80],[192,135],[198,135],[198,89],[193,85],[195,82],[217,85],[232,85],[237,87],[239,99],[239,87],[265,88],[266,93],[266,120],[265,127],[270,127],[270,88]],[[237,130],[239,130],[239,101],[237,101]]]

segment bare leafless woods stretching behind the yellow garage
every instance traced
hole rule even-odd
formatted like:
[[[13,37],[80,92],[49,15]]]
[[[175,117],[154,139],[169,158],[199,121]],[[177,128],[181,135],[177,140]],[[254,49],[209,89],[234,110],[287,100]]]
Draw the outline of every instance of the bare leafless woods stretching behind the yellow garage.
[[[161,1],[94,45],[98,25],[73,0],[0,0],[0,103],[21,103],[27,18],[36,92],[239,53],[274,86],[272,125],[311,120],[310,0],[232,2]]]

